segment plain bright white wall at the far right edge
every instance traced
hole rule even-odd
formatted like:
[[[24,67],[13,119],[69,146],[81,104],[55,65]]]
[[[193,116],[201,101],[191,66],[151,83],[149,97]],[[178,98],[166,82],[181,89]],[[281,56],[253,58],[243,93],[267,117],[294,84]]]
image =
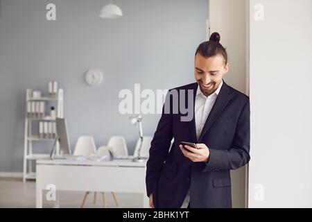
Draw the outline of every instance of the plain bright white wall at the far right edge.
[[[312,1],[250,12],[249,207],[312,207]]]

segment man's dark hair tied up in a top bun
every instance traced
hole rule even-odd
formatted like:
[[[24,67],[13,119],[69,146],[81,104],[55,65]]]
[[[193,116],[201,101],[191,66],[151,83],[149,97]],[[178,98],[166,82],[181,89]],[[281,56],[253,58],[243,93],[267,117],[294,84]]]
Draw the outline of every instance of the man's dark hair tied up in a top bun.
[[[195,56],[199,53],[201,56],[205,58],[209,58],[212,56],[223,56],[225,60],[225,65],[227,64],[227,51],[222,46],[220,42],[220,34],[219,33],[212,33],[210,35],[209,41],[202,42],[196,49]]]

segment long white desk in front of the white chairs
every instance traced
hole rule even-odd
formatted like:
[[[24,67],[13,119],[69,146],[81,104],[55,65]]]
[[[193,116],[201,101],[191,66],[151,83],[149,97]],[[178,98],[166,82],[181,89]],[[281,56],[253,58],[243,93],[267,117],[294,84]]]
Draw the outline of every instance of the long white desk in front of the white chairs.
[[[110,191],[146,195],[146,162],[114,160],[37,160],[36,207],[42,207],[42,191],[55,185],[56,191]],[[57,203],[60,200],[57,196]]]

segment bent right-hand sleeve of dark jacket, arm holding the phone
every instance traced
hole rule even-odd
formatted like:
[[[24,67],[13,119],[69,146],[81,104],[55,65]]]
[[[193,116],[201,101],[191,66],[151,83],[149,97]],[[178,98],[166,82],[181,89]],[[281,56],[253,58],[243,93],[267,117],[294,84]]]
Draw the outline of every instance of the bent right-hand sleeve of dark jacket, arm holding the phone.
[[[250,160],[250,101],[241,111],[232,146],[227,150],[210,149],[203,171],[230,170],[243,167]]]

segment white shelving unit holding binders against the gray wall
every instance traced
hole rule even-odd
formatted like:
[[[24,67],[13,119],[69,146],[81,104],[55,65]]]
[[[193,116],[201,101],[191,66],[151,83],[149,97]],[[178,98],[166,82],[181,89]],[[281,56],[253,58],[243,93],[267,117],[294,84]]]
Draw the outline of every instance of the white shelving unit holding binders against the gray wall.
[[[55,121],[55,119],[45,117],[45,114],[41,118],[33,118],[28,116],[28,102],[50,102],[56,107],[56,117],[64,117],[64,91],[63,89],[58,89],[58,94],[56,96],[42,96],[40,98],[32,97],[32,89],[26,90],[26,107],[25,107],[25,132],[24,132],[24,164],[23,164],[23,182],[27,179],[35,179],[35,172],[33,171],[33,162],[36,160],[42,160],[49,158],[49,153],[33,153],[33,143],[34,142],[53,142],[54,138],[40,137],[39,132],[34,134],[33,124],[37,123],[39,125],[40,121]],[[46,103],[44,103],[46,106]],[[46,109],[44,109],[46,110]],[[58,143],[56,144],[56,152],[58,152]],[[52,147],[51,147],[52,148]]]

